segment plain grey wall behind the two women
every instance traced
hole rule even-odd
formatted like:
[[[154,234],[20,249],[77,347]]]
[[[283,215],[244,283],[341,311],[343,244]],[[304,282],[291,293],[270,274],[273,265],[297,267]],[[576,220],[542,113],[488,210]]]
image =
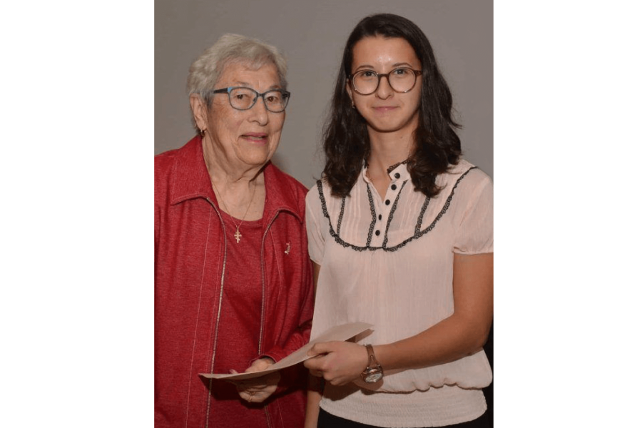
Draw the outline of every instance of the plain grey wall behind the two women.
[[[364,16],[399,14],[428,36],[464,128],[464,157],[494,180],[494,0],[154,0],[154,154],[195,135],[190,64],[225,33],[277,46],[292,93],[272,161],[311,187],[322,171],[320,133],[347,36]]]

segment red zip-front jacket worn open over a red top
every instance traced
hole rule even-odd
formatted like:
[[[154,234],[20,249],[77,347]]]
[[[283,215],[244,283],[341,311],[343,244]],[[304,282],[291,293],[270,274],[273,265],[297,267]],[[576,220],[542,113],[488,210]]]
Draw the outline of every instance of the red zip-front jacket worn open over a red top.
[[[258,354],[279,361],[310,338],[313,287],[304,220],[307,189],[271,163],[264,175],[266,232],[260,268],[275,263],[280,280],[263,280]],[[216,348],[224,346],[215,340],[229,243],[221,232],[222,218],[200,136],[183,148],[154,156],[155,428],[205,427],[208,420],[212,427],[211,421],[220,423],[226,416],[220,414],[225,407],[208,402],[215,401],[208,392],[209,382],[198,376],[210,372]],[[287,254],[284,243],[290,243]],[[282,370],[279,389],[264,403],[269,427],[302,426],[305,373],[302,365]],[[233,427],[229,422],[227,426]]]

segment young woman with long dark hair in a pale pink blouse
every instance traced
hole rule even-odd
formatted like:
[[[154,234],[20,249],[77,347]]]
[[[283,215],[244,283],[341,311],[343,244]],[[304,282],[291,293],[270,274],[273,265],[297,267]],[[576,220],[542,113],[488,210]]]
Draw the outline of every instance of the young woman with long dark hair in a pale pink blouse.
[[[452,95],[423,32],[368,16],[345,46],[306,198],[316,280],[306,427],[487,427],[494,185],[461,158]],[[324,386],[325,384],[325,386]]]

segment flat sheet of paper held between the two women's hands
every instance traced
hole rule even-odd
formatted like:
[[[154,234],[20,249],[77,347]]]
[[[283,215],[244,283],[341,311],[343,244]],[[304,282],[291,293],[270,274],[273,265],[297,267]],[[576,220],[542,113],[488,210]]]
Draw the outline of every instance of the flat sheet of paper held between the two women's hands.
[[[309,351],[310,348],[312,348],[317,342],[330,342],[332,340],[341,340],[341,341],[348,340],[350,339],[350,337],[355,337],[359,333],[365,332],[370,327],[373,327],[372,324],[368,324],[367,322],[350,322],[348,324],[337,325],[336,327],[332,327],[328,330],[325,330],[325,332],[319,335],[319,337],[317,337],[315,340],[311,340],[307,345],[303,345],[295,352],[292,352],[292,354],[283,358],[282,360],[275,363],[274,365],[271,365],[269,369],[262,370],[260,372],[237,373],[237,374],[225,374],[225,373],[220,373],[220,374],[199,373],[199,374],[200,376],[203,376],[206,379],[238,379],[238,380],[253,379],[254,377],[265,376],[265,374],[277,372],[278,370],[285,369],[285,367],[290,367],[300,362],[303,362],[308,358],[312,358],[314,355],[307,355],[307,351]]]

